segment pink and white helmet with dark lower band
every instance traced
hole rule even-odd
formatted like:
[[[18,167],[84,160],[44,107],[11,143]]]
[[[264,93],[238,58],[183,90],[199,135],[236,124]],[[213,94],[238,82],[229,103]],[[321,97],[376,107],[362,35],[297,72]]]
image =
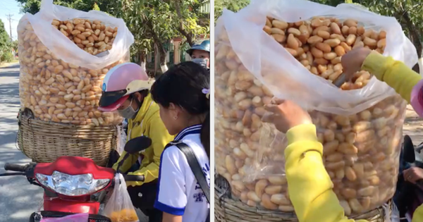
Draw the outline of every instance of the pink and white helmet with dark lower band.
[[[145,70],[135,63],[121,63],[115,66],[104,77],[99,110],[115,111],[128,99],[130,94],[149,90],[153,82],[148,78]]]

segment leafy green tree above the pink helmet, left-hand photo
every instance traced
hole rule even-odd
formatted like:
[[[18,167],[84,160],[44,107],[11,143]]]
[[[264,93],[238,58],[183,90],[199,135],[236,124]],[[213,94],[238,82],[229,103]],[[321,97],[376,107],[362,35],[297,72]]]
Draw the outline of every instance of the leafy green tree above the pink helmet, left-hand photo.
[[[147,51],[160,54],[161,71],[167,70],[166,47],[173,37],[183,36],[188,44],[209,31],[200,25],[200,8],[207,1],[123,0],[119,17],[123,18],[135,37],[133,55],[145,61]],[[157,49],[157,50],[154,50]]]

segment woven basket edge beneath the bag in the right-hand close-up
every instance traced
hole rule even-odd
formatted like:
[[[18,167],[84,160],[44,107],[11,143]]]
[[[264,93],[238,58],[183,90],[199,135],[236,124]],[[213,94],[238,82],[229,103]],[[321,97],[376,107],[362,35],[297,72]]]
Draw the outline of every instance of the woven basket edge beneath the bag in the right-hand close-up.
[[[231,197],[231,188],[225,178],[216,177],[214,192],[214,218],[219,222],[298,222],[294,212],[271,211],[248,206],[239,199]],[[386,207],[388,206],[388,207]],[[355,220],[364,219],[369,222],[384,222],[386,215],[391,215],[392,203],[368,211],[364,214],[350,216]]]

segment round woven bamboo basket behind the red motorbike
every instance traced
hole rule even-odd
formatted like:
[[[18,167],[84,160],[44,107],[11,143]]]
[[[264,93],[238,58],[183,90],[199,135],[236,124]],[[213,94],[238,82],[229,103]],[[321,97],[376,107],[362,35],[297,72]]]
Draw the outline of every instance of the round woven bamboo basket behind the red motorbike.
[[[81,156],[106,166],[118,144],[117,125],[93,126],[45,122],[29,109],[18,116],[18,147],[36,163],[50,163],[59,156]]]

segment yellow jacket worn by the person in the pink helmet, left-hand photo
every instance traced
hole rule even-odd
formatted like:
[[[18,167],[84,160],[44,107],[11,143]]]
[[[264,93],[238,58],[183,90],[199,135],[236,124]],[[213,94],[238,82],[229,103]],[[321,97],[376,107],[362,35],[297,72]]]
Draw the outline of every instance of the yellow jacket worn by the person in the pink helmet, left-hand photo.
[[[128,171],[141,155],[142,162],[140,169],[138,171],[128,173],[128,175],[144,175],[145,181],[127,182],[126,185],[128,186],[142,185],[143,183],[149,183],[159,178],[161,153],[163,152],[166,144],[173,140],[173,136],[169,135],[168,130],[161,121],[159,105],[152,100],[151,94],[148,94],[147,97],[144,98],[137,116],[135,116],[134,119],[128,120],[128,140],[142,135],[151,138],[152,145],[140,152],[140,154],[131,154],[128,159],[123,162],[121,171]],[[125,154],[126,152],[124,151],[118,162],[114,164],[113,168],[115,170]]]

